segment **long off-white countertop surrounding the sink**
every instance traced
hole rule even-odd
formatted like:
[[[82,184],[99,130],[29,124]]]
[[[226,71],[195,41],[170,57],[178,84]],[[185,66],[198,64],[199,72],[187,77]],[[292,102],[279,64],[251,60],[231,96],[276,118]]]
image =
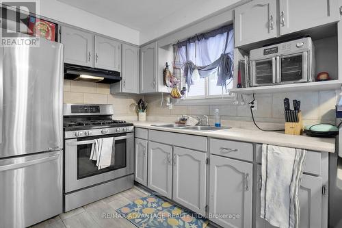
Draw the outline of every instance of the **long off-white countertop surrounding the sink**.
[[[135,127],[155,129],[160,131],[171,131],[183,134],[192,134],[197,136],[207,136],[213,138],[222,138],[227,140],[237,140],[242,142],[256,142],[261,144],[273,144],[280,147],[293,147],[307,149],[311,151],[321,151],[334,153],[334,138],[315,138],[309,136],[292,136],[284,133],[260,131],[251,129],[231,128],[218,131],[194,131],[187,129],[173,129],[167,127],[155,127],[152,125],[163,125],[169,123],[133,121]]]

